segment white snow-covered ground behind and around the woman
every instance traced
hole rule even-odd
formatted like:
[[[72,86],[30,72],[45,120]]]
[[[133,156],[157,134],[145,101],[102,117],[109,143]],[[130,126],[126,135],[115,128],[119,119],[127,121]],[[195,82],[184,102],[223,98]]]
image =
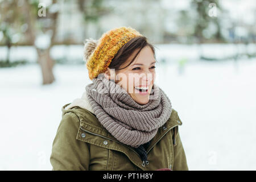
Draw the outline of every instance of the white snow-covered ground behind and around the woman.
[[[190,170],[256,169],[256,60],[158,65],[156,84],[170,97]],[[56,65],[41,85],[38,65],[0,69],[0,169],[51,170],[61,107],[91,81],[85,65]]]

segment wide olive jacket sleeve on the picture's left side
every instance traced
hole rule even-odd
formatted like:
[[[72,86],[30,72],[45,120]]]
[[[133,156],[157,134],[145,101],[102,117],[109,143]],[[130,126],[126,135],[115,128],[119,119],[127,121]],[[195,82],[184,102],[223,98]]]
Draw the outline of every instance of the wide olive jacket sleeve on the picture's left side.
[[[88,144],[76,139],[80,121],[76,114],[63,115],[52,144],[52,171],[82,171],[89,168]]]

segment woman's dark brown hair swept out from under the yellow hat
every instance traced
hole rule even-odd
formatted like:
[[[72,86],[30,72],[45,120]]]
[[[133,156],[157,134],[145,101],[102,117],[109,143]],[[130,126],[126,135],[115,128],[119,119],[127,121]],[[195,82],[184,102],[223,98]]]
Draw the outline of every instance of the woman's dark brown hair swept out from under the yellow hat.
[[[141,52],[141,49],[145,46],[149,46],[152,49],[152,52],[154,54],[155,58],[155,48],[152,46],[152,44],[147,42],[147,38],[145,36],[137,36],[126,44],[124,44],[117,52],[117,54],[112,59],[111,63],[109,64],[109,68],[114,68],[115,70],[124,69],[126,67],[129,67],[131,63],[133,63],[134,59],[137,57],[139,52]],[[133,59],[130,61],[130,63],[124,67],[120,68],[123,63],[126,62],[126,60],[133,54],[134,51],[139,49],[137,54],[133,57]],[[156,58],[155,58],[156,59]]]

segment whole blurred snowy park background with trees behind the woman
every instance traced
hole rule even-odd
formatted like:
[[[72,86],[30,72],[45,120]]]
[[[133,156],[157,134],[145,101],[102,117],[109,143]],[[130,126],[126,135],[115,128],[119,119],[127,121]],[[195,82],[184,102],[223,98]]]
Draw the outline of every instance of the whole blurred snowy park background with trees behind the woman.
[[[255,170],[254,0],[0,0],[0,169],[52,169],[61,107],[91,83],[84,40],[121,26],[156,47],[189,170]]]

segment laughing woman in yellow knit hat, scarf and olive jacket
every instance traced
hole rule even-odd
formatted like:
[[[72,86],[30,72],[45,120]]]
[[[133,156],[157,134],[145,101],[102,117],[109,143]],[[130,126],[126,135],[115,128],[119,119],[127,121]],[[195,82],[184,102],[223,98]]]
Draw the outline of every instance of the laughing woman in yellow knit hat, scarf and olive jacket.
[[[52,170],[188,170],[177,111],[156,84],[155,51],[131,27],[87,40],[89,78],[62,107]]]

